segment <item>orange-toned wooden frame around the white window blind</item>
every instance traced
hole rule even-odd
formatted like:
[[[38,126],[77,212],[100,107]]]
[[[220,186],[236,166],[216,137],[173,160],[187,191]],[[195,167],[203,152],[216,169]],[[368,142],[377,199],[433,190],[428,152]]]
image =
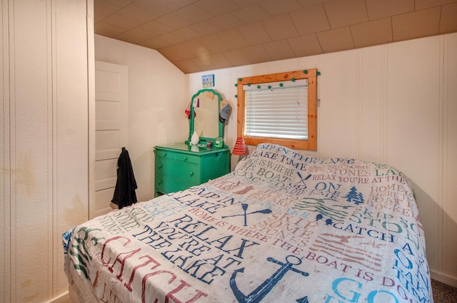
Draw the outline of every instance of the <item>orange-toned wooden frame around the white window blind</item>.
[[[258,85],[261,83],[270,83],[277,81],[293,81],[293,79],[308,79],[308,139],[293,140],[281,138],[264,138],[264,137],[248,137],[245,132],[245,91],[244,85]],[[238,89],[238,124],[237,137],[243,137],[247,145],[258,145],[261,143],[272,143],[283,145],[288,148],[298,150],[317,150],[317,69],[308,69],[304,71],[290,71],[286,73],[271,73],[268,75],[251,76],[246,78],[238,78],[236,82]]]

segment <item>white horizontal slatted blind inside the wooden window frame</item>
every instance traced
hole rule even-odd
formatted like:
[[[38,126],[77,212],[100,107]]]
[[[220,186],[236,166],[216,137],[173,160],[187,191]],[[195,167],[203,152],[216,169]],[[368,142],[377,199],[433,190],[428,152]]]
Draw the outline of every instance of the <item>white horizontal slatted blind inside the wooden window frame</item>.
[[[245,92],[245,135],[308,139],[308,80],[251,84]]]

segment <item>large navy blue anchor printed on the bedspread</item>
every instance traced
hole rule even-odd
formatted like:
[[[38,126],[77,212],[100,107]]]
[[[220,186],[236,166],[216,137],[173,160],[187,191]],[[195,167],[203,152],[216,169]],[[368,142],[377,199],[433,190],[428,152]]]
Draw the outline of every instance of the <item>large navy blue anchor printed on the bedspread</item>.
[[[261,300],[268,294],[268,292],[271,291],[271,289],[273,289],[273,287],[279,282],[279,280],[281,280],[284,277],[284,275],[289,270],[291,270],[292,272],[297,272],[298,274],[301,274],[304,277],[308,277],[309,275],[308,272],[302,272],[301,270],[293,268],[293,265],[301,264],[301,259],[294,255],[288,255],[286,257],[285,263],[279,262],[278,260],[274,260],[272,257],[268,257],[266,260],[281,265],[281,267],[278,270],[276,270],[276,272],[274,272],[271,275],[271,277],[266,279],[262,284],[260,284],[256,289],[253,290],[253,292],[251,292],[248,295],[243,294],[243,292],[241,292],[241,290],[238,289],[238,286],[236,285],[236,274],[238,274],[238,272],[244,272],[244,267],[241,269],[236,269],[235,271],[233,271],[233,274],[231,274],[230,288],[239,303],[261,302]],[[298,300],[299,301],[297,302],[307,302],[308,297],[303,297]]]

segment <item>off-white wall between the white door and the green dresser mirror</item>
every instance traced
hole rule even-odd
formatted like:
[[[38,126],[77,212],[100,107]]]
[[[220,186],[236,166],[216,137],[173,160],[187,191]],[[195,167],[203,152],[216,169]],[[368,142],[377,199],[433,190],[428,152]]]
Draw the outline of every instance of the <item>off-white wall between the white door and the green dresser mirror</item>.
[[[152,199],[154,146],[184,142],[189,134],[189,120],[184,114],[191,98],[188,76],[158,51],[99,35],[95,35],[95,58],[127,66],[129,70],[126,148],[138,185],[138,200]]]

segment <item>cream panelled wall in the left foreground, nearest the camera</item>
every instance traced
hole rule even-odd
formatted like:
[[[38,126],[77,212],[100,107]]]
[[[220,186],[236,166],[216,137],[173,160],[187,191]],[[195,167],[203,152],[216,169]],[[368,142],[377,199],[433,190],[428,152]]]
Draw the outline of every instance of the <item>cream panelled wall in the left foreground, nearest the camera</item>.
[[[61,235],[88,211],[93,10],[86,0],[0,9],[0,302],[46,302],[67,292]]]

